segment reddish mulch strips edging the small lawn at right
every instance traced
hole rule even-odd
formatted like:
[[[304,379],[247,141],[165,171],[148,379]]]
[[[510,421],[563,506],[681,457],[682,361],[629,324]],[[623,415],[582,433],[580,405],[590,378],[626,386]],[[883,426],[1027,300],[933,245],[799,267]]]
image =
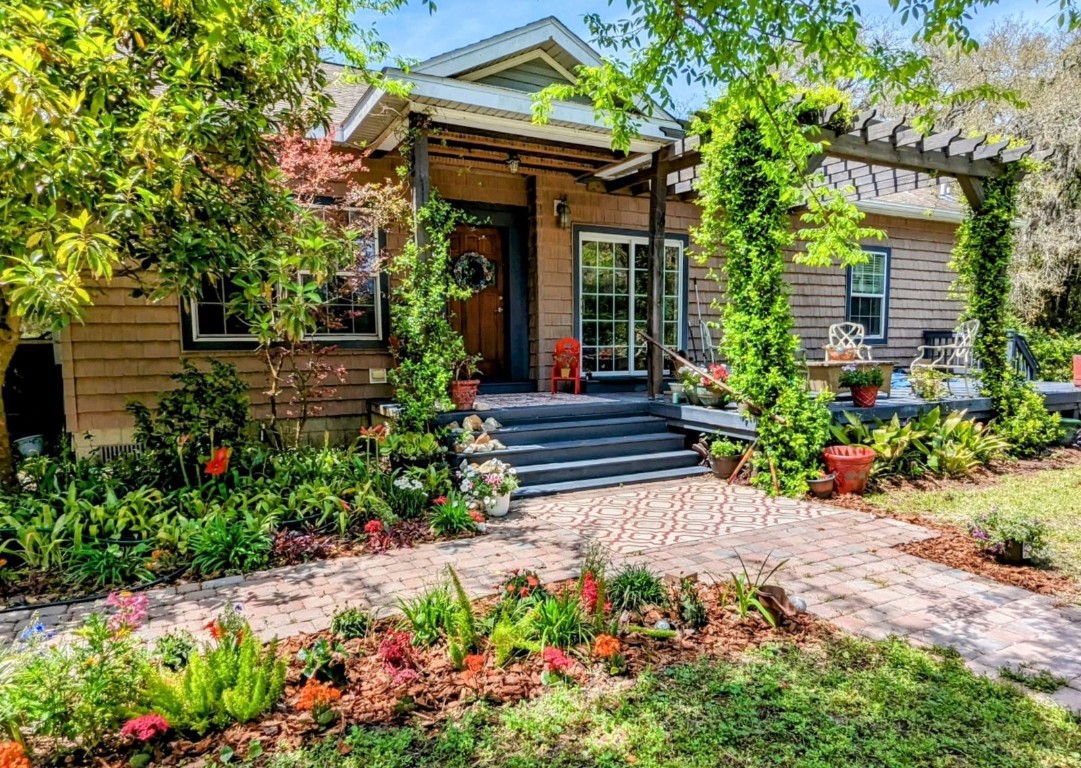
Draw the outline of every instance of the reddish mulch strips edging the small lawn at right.
[[[969,478],[921,478],[918,480],[892,479],[881,484],[880,490],[891,491],[943,491],[953,488],[993,486],[1001,477],[1011,475],[1032,475],[1045,469],[1065,469],[1081,466],[1081,451],[1058,450],[1041,459],[1015,461],[982,469]],[[902,544],[896,548],[909,555],[940,562],[944,566],[976,573],[986,579],[1019,586],[1041,595],[1052,595],[1064,601],[1081,598],[1081,586],[1062,573],[1038,566],[1011,566],[1000,562],[995,556],[984,552],[969,532],[957,526],[932,520],[921,515],[904,514],[870,504],[862,496],[837,496],[830,502],[836,506],[857,512],[866,512],[876,517],[892,517],[911,522],[938,533],[934,539]]]

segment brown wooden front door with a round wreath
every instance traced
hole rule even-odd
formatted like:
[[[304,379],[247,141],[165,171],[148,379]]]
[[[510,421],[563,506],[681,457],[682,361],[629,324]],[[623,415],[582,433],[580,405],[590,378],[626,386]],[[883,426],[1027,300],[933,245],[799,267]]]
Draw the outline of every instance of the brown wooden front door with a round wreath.
[[[466,350],[480,355],[484,379],[507,378],[507,263],[503,236],[496,227],[458,227],[451,236],[451,265],[464,253],[479,253],[495,267],[488,288],[465,301],[451,302],[451,325],[462,334]]]

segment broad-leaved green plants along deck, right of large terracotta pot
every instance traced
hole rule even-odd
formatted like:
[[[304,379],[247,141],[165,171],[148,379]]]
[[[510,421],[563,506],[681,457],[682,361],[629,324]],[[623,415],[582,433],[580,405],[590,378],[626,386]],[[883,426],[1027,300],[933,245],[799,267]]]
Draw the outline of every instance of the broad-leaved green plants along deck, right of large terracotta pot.
[[[875,450],[876,477],[921,477],[929,473],[961,477],[1001,459],[1010,448],[997,431],[966,419],[965,413],[944,413],[935,406],[907,422],[894,414],[890,421],[869,427],[845,412],[846,423],[831,428],[838,441]]]

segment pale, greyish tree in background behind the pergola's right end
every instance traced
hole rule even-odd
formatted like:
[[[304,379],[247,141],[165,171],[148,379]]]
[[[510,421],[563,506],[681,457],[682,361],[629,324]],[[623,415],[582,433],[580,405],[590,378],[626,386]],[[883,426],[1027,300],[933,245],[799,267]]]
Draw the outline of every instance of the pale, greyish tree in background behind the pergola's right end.
[[[1012,18],[969,56],[942,47],[927,55],[944,92],[984,81],[1014,96],[943,106],[943,123],[1055,150],[1017,190],[1011,306],[1028,322],[1081,332],[1081,36]]]

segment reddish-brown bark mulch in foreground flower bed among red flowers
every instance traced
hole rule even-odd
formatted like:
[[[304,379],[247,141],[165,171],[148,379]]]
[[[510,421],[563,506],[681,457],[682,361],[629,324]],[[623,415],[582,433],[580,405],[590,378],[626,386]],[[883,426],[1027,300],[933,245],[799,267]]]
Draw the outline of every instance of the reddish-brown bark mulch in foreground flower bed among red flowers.
[[[560,586],[556,585],[557,592]],[[806,614],[799,615],[776,630],[771,628],[758,614],[740,620],[732,608],[723,607],[722,592],[723,587],[702,586],[709,614],[709,623],[702,630],[680,630],[673,639],[623,635],[620,641],[627,664],[623,675],[609,675],[593,663],[588,648],[579,648],[568,653],[575,660],[569,677],[584,688],[600,691],[619,685],[620,681],[629,683],[646,668],[656,670],[691,662],[703,656],[735,659],[749,649],[778,640],[816,646],[832,634],[828,624]],[[477,615],[483,615],[494,601],[495,598],[479,601]],[[653,611],[643,617],[642,621],[652,623],[655,617],[660,617],[660,613]],[[163,751],[161,759],[155,763],[199,766],[214,758],[225,746],[242,756],[246,754],[253,739],[259,740],[264,747],[272,745],[275,750],[290,749],[317,737],[346,732],[352,725],[390,726],[408,723],[415,727],[435,729],[478,701],[513,703],[533,699],[548,690],[542,683],[544,661],[538,654],[498,667],[491,649],[486,649],[484,666],[475,674],[454,670],[444,644],[429,649],[415,648],[418,677],[404,685],[396,685],[379,660],[377,648],[383,637],[396,628],[397,623],[397,619],[379,620],[368,637],[344,644],[348,681],[342,687],[342,699],[335,705],[335,710],[342,715],[336,725],[321,728],[309,713],[296,710],[297,698],[305,683],[301,675],[303,664],[295,661],[296,652],[320,637],[332,640],[328,632],[302,635],[290,638],[280,646],[281,652],[294,661],[290,665],[283,702],[271,713],[254,723],[232,726],[200,741],[173,741]],[[114,754],[104,762],[125,765],[126,755]]]

